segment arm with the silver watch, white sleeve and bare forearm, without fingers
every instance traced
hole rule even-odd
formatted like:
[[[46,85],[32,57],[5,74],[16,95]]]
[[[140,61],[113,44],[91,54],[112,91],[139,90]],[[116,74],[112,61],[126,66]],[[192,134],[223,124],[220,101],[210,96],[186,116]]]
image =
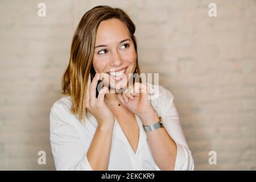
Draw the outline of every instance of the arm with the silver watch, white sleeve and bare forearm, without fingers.
[[[165,128],[147,132],[153,158],[162,170],[193,170],[193,158],[180,125],[174,97],[169,90],[164,89],[163,92],[164,99],[161,104],[166,109],[161,116]],[[140,118],[145,125],[151,125],[158,121],[158,113],[152,110]]]

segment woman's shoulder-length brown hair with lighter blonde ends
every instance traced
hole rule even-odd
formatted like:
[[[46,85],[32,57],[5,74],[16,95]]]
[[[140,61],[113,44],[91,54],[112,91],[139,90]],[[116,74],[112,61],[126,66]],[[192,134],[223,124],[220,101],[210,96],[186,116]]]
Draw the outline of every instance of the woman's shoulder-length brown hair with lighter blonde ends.
[[[98,26],[103,20],[117,18],[123,22],[129,30],[137,54],[137,71],[140,74],[138,64],[137,43],[134,36],[135,24],[129,15],[122,9],[110,6],[96,6],[87,11],[81,18],[75,34],[73,35],[69,64],[62,79],[61,93],[71,96],[71,113],[79,115],[79,120],[88,114],[86,110],[86,86],[92,67],[94,44]]]

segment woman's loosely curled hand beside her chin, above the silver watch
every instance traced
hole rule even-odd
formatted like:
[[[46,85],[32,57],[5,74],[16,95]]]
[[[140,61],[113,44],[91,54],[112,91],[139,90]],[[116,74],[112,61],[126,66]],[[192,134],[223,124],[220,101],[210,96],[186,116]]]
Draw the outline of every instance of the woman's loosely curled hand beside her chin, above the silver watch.
[[[154,113],[155,110],[151,105],[150,89],[148,85],[135,82],[130,86],[129,92],[118,94],[119,101],[130,111],[137,114],[139,117],[142,115]]]

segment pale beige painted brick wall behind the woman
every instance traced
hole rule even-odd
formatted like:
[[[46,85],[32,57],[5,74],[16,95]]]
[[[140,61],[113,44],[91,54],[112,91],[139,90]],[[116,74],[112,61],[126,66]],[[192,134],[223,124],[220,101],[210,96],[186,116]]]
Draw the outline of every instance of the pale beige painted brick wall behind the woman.
[[[38,3],[46,3],[46,17]],[[217,17],[209,17],[209,3]],[[55,169],[49,109],[73,32],[96,5],[127,10],[143,72],[174,94],[195,169],[256,169],[256,1],[1,1],[0,169]],[[38,164],[38,151],[47,164]],[[216,151],[217,164],[208,163]]]

